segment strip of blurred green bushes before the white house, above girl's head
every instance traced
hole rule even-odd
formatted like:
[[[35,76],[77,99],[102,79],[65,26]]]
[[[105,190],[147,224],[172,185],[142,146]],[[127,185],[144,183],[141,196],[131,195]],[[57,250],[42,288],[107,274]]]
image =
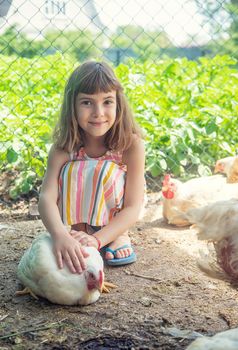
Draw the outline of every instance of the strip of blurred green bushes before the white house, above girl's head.
[[[105,49],[130,50],[133,57],[144,62],[148,57],[157,59],[161,48],[171,45],[163,30],[145,31],[135,25],[121,26],[107,34],[93,33],[89,29],[51,29],[38,39],[30,39],[13,25],[0,35],[0,52],[3,55],[33,58],[58,52],[71,55],[80,62],[103,56]]]

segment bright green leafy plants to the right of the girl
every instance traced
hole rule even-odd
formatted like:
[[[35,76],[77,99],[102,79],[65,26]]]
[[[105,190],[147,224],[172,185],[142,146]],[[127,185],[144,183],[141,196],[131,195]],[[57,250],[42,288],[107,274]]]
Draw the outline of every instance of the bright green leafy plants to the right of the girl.
[[[211,174],[217,158],[235,154],[238,72],[228,56],[120,65],[118,76],[145,130],[153,176]]]

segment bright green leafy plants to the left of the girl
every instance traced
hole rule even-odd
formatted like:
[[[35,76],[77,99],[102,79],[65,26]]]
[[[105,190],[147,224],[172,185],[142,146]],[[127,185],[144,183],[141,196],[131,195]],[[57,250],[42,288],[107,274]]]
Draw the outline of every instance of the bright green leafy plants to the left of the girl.
[[[61,55],[26,59],[0,56],[0,162],[15,181],[10,196],[28,193],[42,179],[68,72]]]

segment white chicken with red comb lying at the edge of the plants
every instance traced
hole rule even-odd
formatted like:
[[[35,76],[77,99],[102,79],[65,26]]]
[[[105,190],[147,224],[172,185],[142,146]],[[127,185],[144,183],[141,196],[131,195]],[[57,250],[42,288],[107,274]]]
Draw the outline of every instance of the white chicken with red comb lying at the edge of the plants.
[[[199,177],[187,182],[165,175],[162,184],[163,217],[172,225],[189,225],[183,213],[190,208],[201,207],[222,198],[225,184],[226,179],[222,175]],[[238,197],[238,184],[236,192]],[[224,194],[227,195],[229,193]]]

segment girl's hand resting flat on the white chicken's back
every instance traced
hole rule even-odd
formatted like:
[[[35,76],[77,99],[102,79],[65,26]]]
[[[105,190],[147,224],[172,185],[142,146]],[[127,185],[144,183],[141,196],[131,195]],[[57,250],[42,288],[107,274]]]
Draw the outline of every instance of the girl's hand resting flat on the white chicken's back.
[[[80,274],[85,270],[85,258],[87,258],[89,254],[85,251],[84,247],[68,233],[64,233],[54,240],[54,252],[60,269],[63,268],[64,262],[72,273]]]

